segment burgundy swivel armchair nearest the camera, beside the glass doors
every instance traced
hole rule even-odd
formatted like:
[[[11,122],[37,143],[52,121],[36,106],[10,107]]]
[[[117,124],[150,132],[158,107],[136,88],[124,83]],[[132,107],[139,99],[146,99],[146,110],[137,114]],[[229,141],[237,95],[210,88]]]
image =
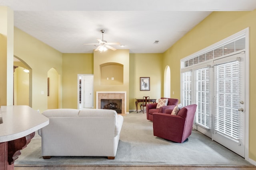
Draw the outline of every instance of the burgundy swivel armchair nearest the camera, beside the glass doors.
[[[176,143],[188,141],[192,133],[196,107],[196,104],[182,107],[177,115],[172,115],[172,110],[167,110],[168,113],[153,113],[154,136]]]

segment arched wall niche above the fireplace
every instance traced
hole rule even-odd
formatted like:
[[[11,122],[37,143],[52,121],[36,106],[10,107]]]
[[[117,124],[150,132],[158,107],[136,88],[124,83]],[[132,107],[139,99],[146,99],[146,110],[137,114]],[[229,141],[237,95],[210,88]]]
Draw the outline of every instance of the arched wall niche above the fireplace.
[[[123,85],[124,65],[120,63],[100,64],[101,85]]]

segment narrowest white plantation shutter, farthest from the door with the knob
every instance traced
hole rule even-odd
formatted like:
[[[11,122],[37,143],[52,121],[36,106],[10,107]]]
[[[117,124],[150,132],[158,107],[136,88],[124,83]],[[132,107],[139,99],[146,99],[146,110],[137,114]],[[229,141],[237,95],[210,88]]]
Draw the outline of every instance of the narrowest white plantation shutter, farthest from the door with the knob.
[[[192,102],[192,71],[182,73],[182,106]]]

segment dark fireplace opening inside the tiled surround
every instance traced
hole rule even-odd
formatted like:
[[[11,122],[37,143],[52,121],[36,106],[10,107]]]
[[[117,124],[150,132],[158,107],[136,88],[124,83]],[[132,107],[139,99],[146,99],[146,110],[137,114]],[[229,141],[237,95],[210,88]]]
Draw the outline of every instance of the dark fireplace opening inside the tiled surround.
[[[122,99],[101,99],[101,109],[115,110],[116,113],[122,113]]]

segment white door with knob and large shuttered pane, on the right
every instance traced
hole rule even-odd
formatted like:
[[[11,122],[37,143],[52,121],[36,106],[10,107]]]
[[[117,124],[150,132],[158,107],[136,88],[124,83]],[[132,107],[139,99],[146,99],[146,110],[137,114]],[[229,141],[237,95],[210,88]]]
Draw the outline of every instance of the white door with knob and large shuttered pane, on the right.
[[[212,139],[245,156],[245,53],[214,61]]]

